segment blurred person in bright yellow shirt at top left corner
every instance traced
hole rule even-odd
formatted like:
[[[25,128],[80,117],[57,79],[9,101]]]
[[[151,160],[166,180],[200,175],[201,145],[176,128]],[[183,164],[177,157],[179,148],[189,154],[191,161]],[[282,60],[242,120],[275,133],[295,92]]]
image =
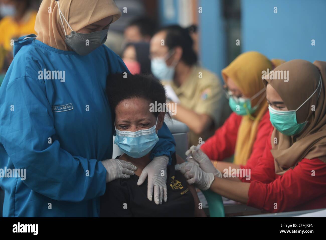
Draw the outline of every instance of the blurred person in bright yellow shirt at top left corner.
[[[31,0],[0,0],[0,72],[6,73],[12,61],[13,42],[19,37],[36,34],[37,11]],[[1,81],[1,80],[0,80]]]

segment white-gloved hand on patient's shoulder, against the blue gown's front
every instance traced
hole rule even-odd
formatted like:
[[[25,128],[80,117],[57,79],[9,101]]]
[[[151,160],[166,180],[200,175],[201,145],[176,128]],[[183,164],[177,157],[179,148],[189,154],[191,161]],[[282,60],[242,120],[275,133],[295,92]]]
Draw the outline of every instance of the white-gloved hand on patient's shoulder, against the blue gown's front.
[[[106,182],[109,183],[118,178],[130,178],[130,175],[135,174],[137,167],[132,163],[126,162],[121,159],[107,159],[101,161],[104,168],[106,169]]]

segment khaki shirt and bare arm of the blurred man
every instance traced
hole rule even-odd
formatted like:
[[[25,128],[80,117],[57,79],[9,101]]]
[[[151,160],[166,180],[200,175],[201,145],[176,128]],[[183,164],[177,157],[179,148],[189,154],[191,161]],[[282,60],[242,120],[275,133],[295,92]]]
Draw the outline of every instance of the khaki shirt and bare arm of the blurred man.
[[[179,104],[170,101],[176,104],[175,115],[172,117],[188,125],[189,146],[202,143],[223,124],[226,116],[222,107],[227,105],[227,102],[221,83],[214,73],[193,66],[181,86],[178,87],[175,82],[163,84],[170,85],[180,100]]]

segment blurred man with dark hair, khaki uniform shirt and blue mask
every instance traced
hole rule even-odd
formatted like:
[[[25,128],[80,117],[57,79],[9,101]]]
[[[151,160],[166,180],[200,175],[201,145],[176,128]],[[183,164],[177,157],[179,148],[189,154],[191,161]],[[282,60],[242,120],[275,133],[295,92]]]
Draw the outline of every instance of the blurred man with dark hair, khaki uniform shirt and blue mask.
[[[172,117],[190,129],[190,146],[212,136],[227,117],[222,110],[227,102],[218,77],[197,65],[189,30],[178,25],[161,28],[151,39],[150,58],[153,75],[176,104]]]

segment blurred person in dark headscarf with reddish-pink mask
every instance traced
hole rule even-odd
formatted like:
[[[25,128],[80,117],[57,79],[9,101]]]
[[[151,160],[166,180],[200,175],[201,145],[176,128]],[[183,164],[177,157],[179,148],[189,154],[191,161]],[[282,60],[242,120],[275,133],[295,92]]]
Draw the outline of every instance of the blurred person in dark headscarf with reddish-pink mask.
[[[123,51],[122,60],[132,74],[150,74],[151,60],[149,59],[149,43],[128,43]]]

